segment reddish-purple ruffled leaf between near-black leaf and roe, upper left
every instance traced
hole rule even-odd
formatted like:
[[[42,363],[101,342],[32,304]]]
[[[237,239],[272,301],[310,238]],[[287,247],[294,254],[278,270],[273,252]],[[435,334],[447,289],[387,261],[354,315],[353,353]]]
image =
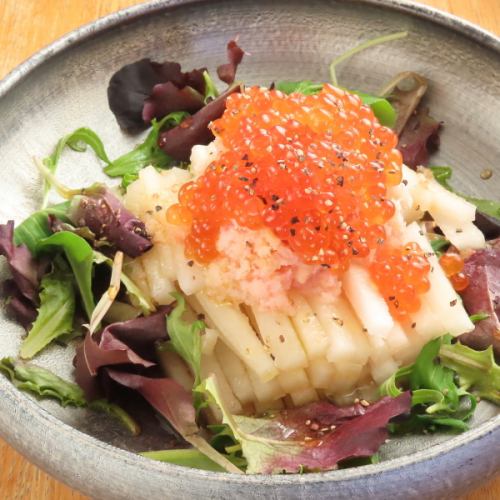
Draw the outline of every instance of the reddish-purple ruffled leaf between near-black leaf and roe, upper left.
[[[192,87],[176,87],[172,82],[158,83],[144,101],[142,118],[149,123],[153,118],[161,119],[173,111],[194,113],[204,106],[203,94]]]

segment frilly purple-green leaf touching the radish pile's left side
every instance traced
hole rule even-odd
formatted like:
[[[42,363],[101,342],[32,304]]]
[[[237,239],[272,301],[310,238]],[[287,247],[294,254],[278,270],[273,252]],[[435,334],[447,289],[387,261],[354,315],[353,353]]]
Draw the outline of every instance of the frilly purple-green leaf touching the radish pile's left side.
[[[138,257],[153,244],[146,226],[129,212],[106,188],[87,190],[85,196],[75,197],[69,215],[79,227],[88,227],[98,239],[103,239],[129,257]]]

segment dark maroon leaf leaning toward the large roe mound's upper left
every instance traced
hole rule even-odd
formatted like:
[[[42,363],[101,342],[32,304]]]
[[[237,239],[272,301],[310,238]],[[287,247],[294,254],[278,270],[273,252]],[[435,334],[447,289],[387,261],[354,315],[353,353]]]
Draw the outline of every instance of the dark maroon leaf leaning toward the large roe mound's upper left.
[[[189,161],[194,145],[208,144],[213,140],[214,135],[208,128],[210,122],[222,116],[228,96],[239,91],[239,85],[229,88],[177,127],[161,133],[158,140],[160,148],[175,160]]]

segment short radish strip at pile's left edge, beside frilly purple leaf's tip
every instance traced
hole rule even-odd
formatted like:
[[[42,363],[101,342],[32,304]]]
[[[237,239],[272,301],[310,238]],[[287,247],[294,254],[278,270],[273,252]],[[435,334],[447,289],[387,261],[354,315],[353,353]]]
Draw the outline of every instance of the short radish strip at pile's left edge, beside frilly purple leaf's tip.
[[[141,257],[142,266],[146,274],[149,293],[153,300],[160,305],[174,301],[172,292],[176,290],[174,282],[169,279],[168,265],[164,264],[162,245],[153,245],[153,248]]]

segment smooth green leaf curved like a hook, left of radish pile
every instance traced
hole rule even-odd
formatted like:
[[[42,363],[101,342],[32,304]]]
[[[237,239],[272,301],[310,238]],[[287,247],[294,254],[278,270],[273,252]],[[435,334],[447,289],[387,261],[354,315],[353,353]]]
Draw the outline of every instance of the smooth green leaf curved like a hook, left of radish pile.
[[[54,251],[63,251],[66,255],[78,285],[85,312],[90,319],[95,307],[92,294],[94,252],[91,246],[80,236],[61,231],[38,242],[37,253],[53,253]]]

